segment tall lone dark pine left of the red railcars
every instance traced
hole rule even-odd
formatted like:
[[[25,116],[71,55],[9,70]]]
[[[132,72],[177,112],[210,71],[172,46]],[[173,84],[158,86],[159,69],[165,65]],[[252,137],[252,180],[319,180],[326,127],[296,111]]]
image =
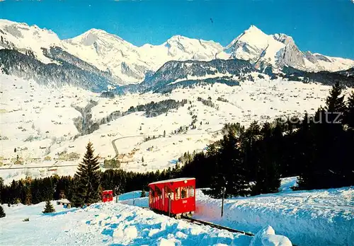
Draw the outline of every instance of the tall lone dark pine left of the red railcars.
[[[101,201],[101,171],[98,157],[93,156],[93,146],[89,142],[82,163],[74,175],[72,204],[76,207]]]

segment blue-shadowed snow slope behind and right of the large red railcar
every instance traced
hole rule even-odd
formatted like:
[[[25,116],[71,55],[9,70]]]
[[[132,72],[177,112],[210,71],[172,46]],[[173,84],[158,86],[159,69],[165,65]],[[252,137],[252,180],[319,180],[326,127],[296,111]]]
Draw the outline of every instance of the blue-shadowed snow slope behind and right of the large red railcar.
[[[282,179],[280,193],[225,199],[222,218],[221,199],[199,189],[194,217],[251,233],[270,225],[295,245],[354,245],[354,187],[292,192],[295,184],[296,177],[289,177]],[[124,204],[148,206],[147,197],[124,197]]]

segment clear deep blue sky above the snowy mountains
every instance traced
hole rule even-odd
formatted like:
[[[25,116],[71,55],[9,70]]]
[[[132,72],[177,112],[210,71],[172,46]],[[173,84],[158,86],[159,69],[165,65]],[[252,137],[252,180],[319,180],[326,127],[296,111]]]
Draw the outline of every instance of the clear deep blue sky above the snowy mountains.
[[[91,28],[134,45],[159,45],[172,35],[227,45],[250,25],[286,33],[302,50],[354,59],[350,0],[2,1],[0,18],[53,30],[61,39]],[[212,18],[212,21],[210,21]]]

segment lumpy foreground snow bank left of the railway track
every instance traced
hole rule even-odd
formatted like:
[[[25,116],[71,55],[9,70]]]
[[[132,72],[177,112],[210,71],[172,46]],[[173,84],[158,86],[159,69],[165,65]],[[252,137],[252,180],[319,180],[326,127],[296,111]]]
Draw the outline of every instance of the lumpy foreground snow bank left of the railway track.
[[[137,206],[113,202],[86,209],[42,214],[44,203],[4,206],[2,245],[249,245],[238,233],[161,216]],[[23,222],[23,218],[30,221]],[[33,233],[39,232],[39,233]]]

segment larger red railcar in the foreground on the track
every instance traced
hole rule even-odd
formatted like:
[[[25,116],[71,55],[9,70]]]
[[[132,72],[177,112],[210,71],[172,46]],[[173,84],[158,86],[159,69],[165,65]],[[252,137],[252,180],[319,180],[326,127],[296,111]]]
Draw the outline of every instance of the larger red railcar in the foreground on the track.
[[[169,216],[192,216],[195,211],[195,178],[181,177],[149,184],[149,208]]]

